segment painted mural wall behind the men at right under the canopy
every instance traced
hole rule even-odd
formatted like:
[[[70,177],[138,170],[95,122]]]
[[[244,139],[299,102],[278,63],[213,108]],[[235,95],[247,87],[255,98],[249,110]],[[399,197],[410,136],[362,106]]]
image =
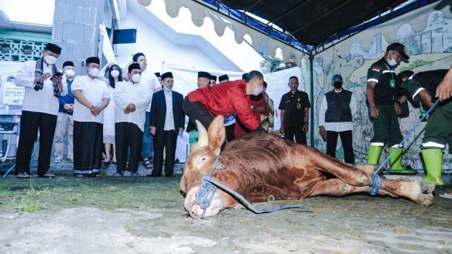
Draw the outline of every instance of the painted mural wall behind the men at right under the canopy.
[[[426,6],[404,16],[365,30],[358,35],[323,51],[314,59],[314,112],[317,114],[323,95],[332,90],[332,75],[340,73],[344,78],[344,87],[354,93],[358,113],[354,116],[354,150],[357,163],[365,162],[368,145],[372,138],[372,125],[365,105],[365,87],[367,71],[370,65],[383,57],[386,47],[392,42],[404,44],[410,55],[408,63],[402,62],[396,72],[412,70],[415,72],[433,69],[449,69],[452,64],[452,19],[450,8],[434,10],[434,5]],[[449,18],[448,18],[449,17]],[[396,33],[397,31],[397,33]],[[303,60],[302,62],[305,62]],[[302,69],[305,69],[302,64]],[[309,64],[308,64],[309,68]],[[304,72],[304,70],[303,70]],[[303,75],[305,75],[303,73]],[[306,75],[304,78],[307,77]],[[309,80],[305,80],[309,82]],[[308,83],[309,84],[309,83]],[[314,117],[314,143],[318,149],[326,150],[326,143],[318,135],[318,116]],[[410,116],[400,119],[401,131],[405,135],[419,120],[419,109],[410,106]],[[403,163],[415,169],[421,169],[419,146],[424,134],[422,123],[410,136],[405,147]],[[452,127],[452,126],[451,126]],[[338,144],[338,156],[343,158],[341,143]],[[450,149],[450,148],[449,148]],[[446,147],[444,169],[452,168],[452,156]],[[452,153],[452,151],[450,151]],[[385,158],[383,154],[381,161]]]

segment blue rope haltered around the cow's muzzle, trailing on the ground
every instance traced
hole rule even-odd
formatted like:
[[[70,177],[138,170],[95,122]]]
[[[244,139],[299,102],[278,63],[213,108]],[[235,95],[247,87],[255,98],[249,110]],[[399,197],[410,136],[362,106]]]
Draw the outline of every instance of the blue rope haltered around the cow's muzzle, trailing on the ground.
[[[219,163],[219,155],[215,159],[215,163],[213,163],[209,176],[204,176],[203,178],[201,178],[201,184],[199,185],[199,189],[196,192],[195,200],[193,200],[190,203],[190,206],[188,208],[188,212],[190,213],[190,216],[195,219],[204,219],[204,216],[206,215],[206,210],[210,206],[210,201],[212,201],[213,196],[215,195],[215,192],[217,191],[217,188],[220,188],[220,189],[224,190],[224,192],[235,197],[235,199],[237,199],[237,201],[242,203],[248,210],[251,210],[251,212],[254,212],[256,214],[276,212],[279,210],[290,209],[290,208],[298,208],[301,210],[309,211],[309,208],[307,206],[301,206],[301,205],[278,206],[278,207],[272,208],[272,209],[257,210],[256,208],[254,208],[254,206],[251,203],[249,203],[242,196],[242,194],[239,194],[235,190],[228,188],[228,186],[212,179],[211,176],[212,176],[213,172],[215,172],[215,170],[217,170],[217,168],[225,168],[224,165],[222,165],[222,163]],[[195,206],[195,204],[197,204],[199,206],[199,208],[201,208],[203,210],[202,214],[199,216],[197,216],[193,213],[193,206]]]

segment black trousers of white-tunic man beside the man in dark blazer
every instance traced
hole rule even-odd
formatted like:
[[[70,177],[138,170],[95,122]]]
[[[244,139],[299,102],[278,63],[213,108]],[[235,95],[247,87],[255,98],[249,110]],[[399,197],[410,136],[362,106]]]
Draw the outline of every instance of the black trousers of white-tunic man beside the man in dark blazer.
[[[134,123],[115,123],[116,171],[138,172],[143,131]],[[127,166],[127,149],[130,147],[129,165]]]

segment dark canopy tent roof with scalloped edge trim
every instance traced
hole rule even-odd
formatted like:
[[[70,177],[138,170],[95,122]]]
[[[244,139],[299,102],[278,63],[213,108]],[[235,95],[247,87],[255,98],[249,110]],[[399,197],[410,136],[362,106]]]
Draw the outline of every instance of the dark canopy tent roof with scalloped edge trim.
[[[229,27],[235,32],[235,41],[242,43],[248,34],[256,51],[260,52],[264,43],[269,55],[274,56],[280,48],[287,61],[302,53],[316,55],[362,30],[436,1],[165,0],[165,4],[171,17],[177,17],[179,9],[186,7],[195,25],[202,26],[204,18],[210,17],[217,35],[222,36]],[[152,0],[138,2],[149,6]],[[439,6],[444,4],[451,3],[442,0]]]

